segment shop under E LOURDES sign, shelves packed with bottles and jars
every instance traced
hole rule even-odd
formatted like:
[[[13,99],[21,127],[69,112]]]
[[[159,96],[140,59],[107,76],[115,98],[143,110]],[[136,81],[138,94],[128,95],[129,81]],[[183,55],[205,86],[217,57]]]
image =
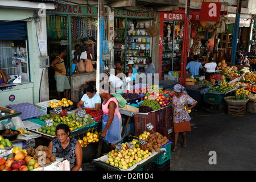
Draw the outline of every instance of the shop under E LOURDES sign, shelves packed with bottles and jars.
[[[114,10],[114,65],[127,72],[127,62],[143,73],[146,57],[152,56],[152,39],[147,28],[153,25],[153,11]],[[113,27],[112,27],[113,28]],[[155,64],[153,62],[153,64]]]

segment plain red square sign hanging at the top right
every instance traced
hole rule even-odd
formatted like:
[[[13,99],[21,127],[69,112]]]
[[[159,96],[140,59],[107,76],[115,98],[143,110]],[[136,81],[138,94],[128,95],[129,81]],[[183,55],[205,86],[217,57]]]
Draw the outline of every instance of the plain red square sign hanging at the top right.
[[[202,2],[199,20],[218,22],[221,2]]]

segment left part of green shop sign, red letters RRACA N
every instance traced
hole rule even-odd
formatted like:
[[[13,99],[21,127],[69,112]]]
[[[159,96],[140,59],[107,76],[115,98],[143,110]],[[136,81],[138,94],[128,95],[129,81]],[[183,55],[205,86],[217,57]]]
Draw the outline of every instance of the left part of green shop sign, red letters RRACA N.
[[[88,15],[98,16],[98,7],[94,6],[75,6],[75,5],[58,5],[54,10],[46,10],[47,14],[73,14],[73,15]],[[105,14],[108,14],[108,9],[105,8]]]

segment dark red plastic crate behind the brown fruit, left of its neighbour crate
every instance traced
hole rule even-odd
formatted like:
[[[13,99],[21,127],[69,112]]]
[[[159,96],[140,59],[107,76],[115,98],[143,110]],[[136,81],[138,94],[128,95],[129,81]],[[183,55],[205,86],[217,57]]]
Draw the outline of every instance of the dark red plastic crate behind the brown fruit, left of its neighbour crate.
[[[155,112],[151,112],[146,114],[138,114],[134,113],[134,135],[139,137],[144,131],[148,131],[146,125],[147,123],[151,123],[154,126],[154,129],[148,131],[149,133],[156,132],[156,124],[155,124]]]

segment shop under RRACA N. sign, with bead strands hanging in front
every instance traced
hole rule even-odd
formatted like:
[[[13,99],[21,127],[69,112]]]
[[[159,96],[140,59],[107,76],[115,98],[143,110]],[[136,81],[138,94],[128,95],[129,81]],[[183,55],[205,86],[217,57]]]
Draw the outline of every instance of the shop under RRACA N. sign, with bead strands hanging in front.
[[[94,70],[85,71],[86,65],[82,71],[70,73],[71,82],[71,100],[78,102],[81,85],[85,82],[96,81],[96,59],[97,59],[97,27],[98,12],[94,6],[75,6],[58,5],[55,10],[47,11],[47,38],[48,55],[50,61],[53,61],[59,54],[60,46],[65,47],[67,53],[64,57],[66,69],[72,66],[72,51],[76,44],[80,45],[80,55],[88,47],[92,47],[92,64]],[[105,9],[105,13],[108,10]],[[49,68],[49,95],[50,98],[56,98],[56,82],[54,70]],[[69,77],[68,76],[68,77]]]

